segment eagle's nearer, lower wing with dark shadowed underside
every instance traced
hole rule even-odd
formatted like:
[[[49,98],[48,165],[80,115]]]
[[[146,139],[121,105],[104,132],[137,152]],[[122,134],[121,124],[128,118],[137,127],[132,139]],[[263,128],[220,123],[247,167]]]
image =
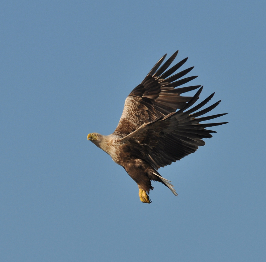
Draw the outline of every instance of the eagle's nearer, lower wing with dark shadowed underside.
[[[205,128],[228,122],[200,124],[202,121],[225,115],[217,114],[200,117],[214,109],[221,101],[194,113],[203,107],[213,97],[214,93],[197,106],[187,110],[197,101],[201,90],[202,88],[179,111],[170,113],[153,122],[145,123],[136,131],[124,137],[121,142],[130,147],[131,155],[145,159],[157,170],[195,152],[199,146],[205,145],[202,139],[211,138],[210,133],[216,133]]]

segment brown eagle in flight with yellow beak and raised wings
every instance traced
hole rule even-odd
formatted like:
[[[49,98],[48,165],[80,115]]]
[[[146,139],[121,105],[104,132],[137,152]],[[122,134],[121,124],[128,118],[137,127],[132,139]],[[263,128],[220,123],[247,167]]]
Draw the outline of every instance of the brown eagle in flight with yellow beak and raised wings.
[[[151,180],[163,183],[177,196],[171,181],[163,178],[157,170],[205,145],[202,139],[211,138],[210,133],[216,133],[205,128],[228,123],[201,123],[225,115],[202,117],[214,109],[221,100],[202,109],[213,97],[213,93],[193,106],[199,99],[203,86],[179,87],[197,76],[182,78],[193,67],[173,74],[188,58],[167,70],[177,53],[178,51],[160,67],[165,54],[142,83],[131,91],[113,134],[88,134],[88,140],[109,154],[115,163],[121,165],[135,180],[139,187],[139,198],[143,203],[151,203],[148,196],[150,190],[153,190]],[[198,91],[193,97],[181,96],[182,93],[195,89]]]

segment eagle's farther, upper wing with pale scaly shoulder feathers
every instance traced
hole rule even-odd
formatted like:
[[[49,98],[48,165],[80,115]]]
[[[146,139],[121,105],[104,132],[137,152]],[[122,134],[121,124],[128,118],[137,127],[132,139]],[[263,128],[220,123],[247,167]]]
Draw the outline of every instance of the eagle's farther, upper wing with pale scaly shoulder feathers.
[[[177,53],[178,51],[160,67],[166,57],[165,54],[153,66],[142,83],[131,91],[126,98],[122,116],[113,134],[124,137],[137,130],[144,123],[165,117],[169,113],[175,112],[176,109],[181,109],[192,98],[182,97],[180,94],[197,89],[200,85],[183,88],[175,87],[186,84],[197,77],[191,76],[176,81],[190,72],[194,66],[171,76],[186,62],[188,57],[165,72]]]

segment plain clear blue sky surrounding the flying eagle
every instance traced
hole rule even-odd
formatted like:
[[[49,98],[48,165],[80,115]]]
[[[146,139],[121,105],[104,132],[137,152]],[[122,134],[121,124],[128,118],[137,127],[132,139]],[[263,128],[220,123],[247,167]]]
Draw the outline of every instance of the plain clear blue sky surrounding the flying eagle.
[[[265,1],[1,1],[1,261],[265,261]],[[87,141],[165,53],[230,123],[138,187]]]

